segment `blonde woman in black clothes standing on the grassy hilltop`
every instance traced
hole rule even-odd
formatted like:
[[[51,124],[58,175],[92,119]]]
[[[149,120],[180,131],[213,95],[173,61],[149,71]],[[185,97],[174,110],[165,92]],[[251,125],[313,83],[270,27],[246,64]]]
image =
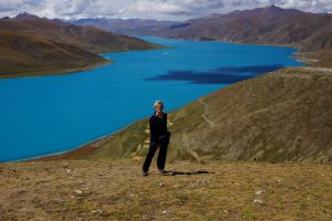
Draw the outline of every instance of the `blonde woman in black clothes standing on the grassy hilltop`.
[[[165,173],[165,161],[167,147],[169,144],[170,133],[167,130],[167,114],[163,113],[164,104],[160,101],[156,101],[154,104],[155,113],[149,118],[149,148],[146,155],[146,159],[143,165],[143,176],[147,176],[147,171],[151,165],[151,161],[159,148],[157,167],[160,173]]]

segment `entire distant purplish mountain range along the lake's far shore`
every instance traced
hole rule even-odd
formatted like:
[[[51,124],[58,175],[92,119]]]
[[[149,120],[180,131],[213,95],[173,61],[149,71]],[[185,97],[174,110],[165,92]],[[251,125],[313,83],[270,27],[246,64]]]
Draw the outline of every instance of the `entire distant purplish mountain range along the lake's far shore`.
[[[184,22],[112,19],[73,22],[129,35],[297,46],[300,56],[307,61],[319,60],[317,65],[332,66],[332,14],[328,13],[309,13],[271,6]]]

